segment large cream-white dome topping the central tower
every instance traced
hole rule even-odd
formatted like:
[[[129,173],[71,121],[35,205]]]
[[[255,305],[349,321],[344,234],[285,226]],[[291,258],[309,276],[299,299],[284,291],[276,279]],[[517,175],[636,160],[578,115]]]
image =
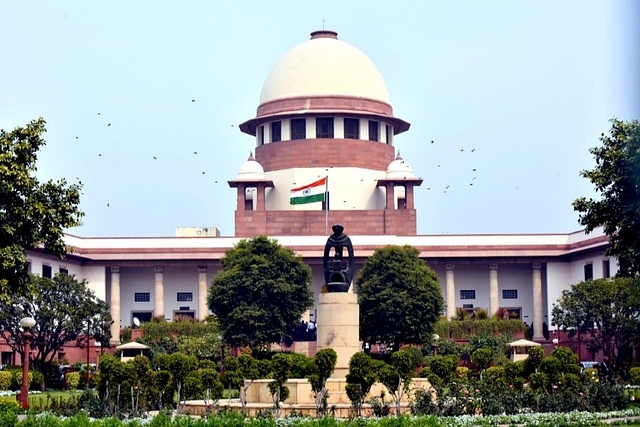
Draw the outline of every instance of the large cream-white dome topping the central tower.
[[[271,69],[260,104],[286,98],[340,96],[391,104],[382,75],[362,52],[337,39],[333,31],[316,31],[291,49]]]

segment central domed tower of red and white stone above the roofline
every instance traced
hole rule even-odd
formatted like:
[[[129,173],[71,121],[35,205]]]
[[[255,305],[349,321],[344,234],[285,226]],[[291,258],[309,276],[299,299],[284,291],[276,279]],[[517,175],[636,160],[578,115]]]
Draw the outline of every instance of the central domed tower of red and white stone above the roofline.
[[[393,115],[373,62],[336,32],[315,31],[280,58],[240,129],[256,147],[229,181],[236,236],[323,235],[336,222],[352,235],[416,234],[422,179],[393,146],[409,123]],[[325,202],[290,204],[292,188],[324,177]]]

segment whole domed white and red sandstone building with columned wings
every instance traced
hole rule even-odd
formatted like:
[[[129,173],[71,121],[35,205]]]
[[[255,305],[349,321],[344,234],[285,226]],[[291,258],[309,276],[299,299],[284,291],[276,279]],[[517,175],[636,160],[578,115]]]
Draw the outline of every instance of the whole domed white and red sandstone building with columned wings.
[[[64,260],[29,252],[31,272],[86,279],[111,305],[117,340],[134,318],[205,318],[207,291],[225,251],[260,234],[303,257],[317,301],[324,245],[340,223],[353,242],[356,271],[377,248],[411,245],[438,273],[447,317],[457,308],[490,315],[504,308],[533,326],[536,341],[544,340],[543,325],[553,328],[552,306],[563,290],[616,273],[601,230],[418,234],[414,201],[423,180],[394,147],[409,128],[395,115],[371,60],[333,31],[313,32],[272,68],[255,116],[240,125],[254,146],[247,144],[247,161],[228,180],[228,191],[237,192],[234,236],[219,236],[215,227],[177,229],[175,237],[66,235],[73,252]],[[292,189],[318,181],[324,201],[291,204]],[[316,309],[305,317],[316,321]],[[5,363],[10,354],[2,356]]]

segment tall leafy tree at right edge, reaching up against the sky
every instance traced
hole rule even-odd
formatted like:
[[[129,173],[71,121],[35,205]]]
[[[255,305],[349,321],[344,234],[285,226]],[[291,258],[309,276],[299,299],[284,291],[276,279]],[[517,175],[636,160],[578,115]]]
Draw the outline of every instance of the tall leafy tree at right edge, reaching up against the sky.
[[[573,201],[579,222],[587,233],[603,226],[616,257],[619,275],[640,273],[640,122],[611,119],[602,146],[589,150],[596,166],[580,174],[595,186],[600,200],[580,197]]]

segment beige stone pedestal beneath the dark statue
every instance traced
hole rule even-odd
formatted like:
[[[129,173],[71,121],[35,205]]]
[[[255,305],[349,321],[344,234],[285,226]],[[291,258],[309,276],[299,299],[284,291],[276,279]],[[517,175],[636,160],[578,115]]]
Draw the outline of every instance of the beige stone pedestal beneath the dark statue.
[[[349,360],[360,349],[360,308],[358,295],[328,292],[318,299],[317,349],[332,348],[338,354],[331,378],[344,378]]]

